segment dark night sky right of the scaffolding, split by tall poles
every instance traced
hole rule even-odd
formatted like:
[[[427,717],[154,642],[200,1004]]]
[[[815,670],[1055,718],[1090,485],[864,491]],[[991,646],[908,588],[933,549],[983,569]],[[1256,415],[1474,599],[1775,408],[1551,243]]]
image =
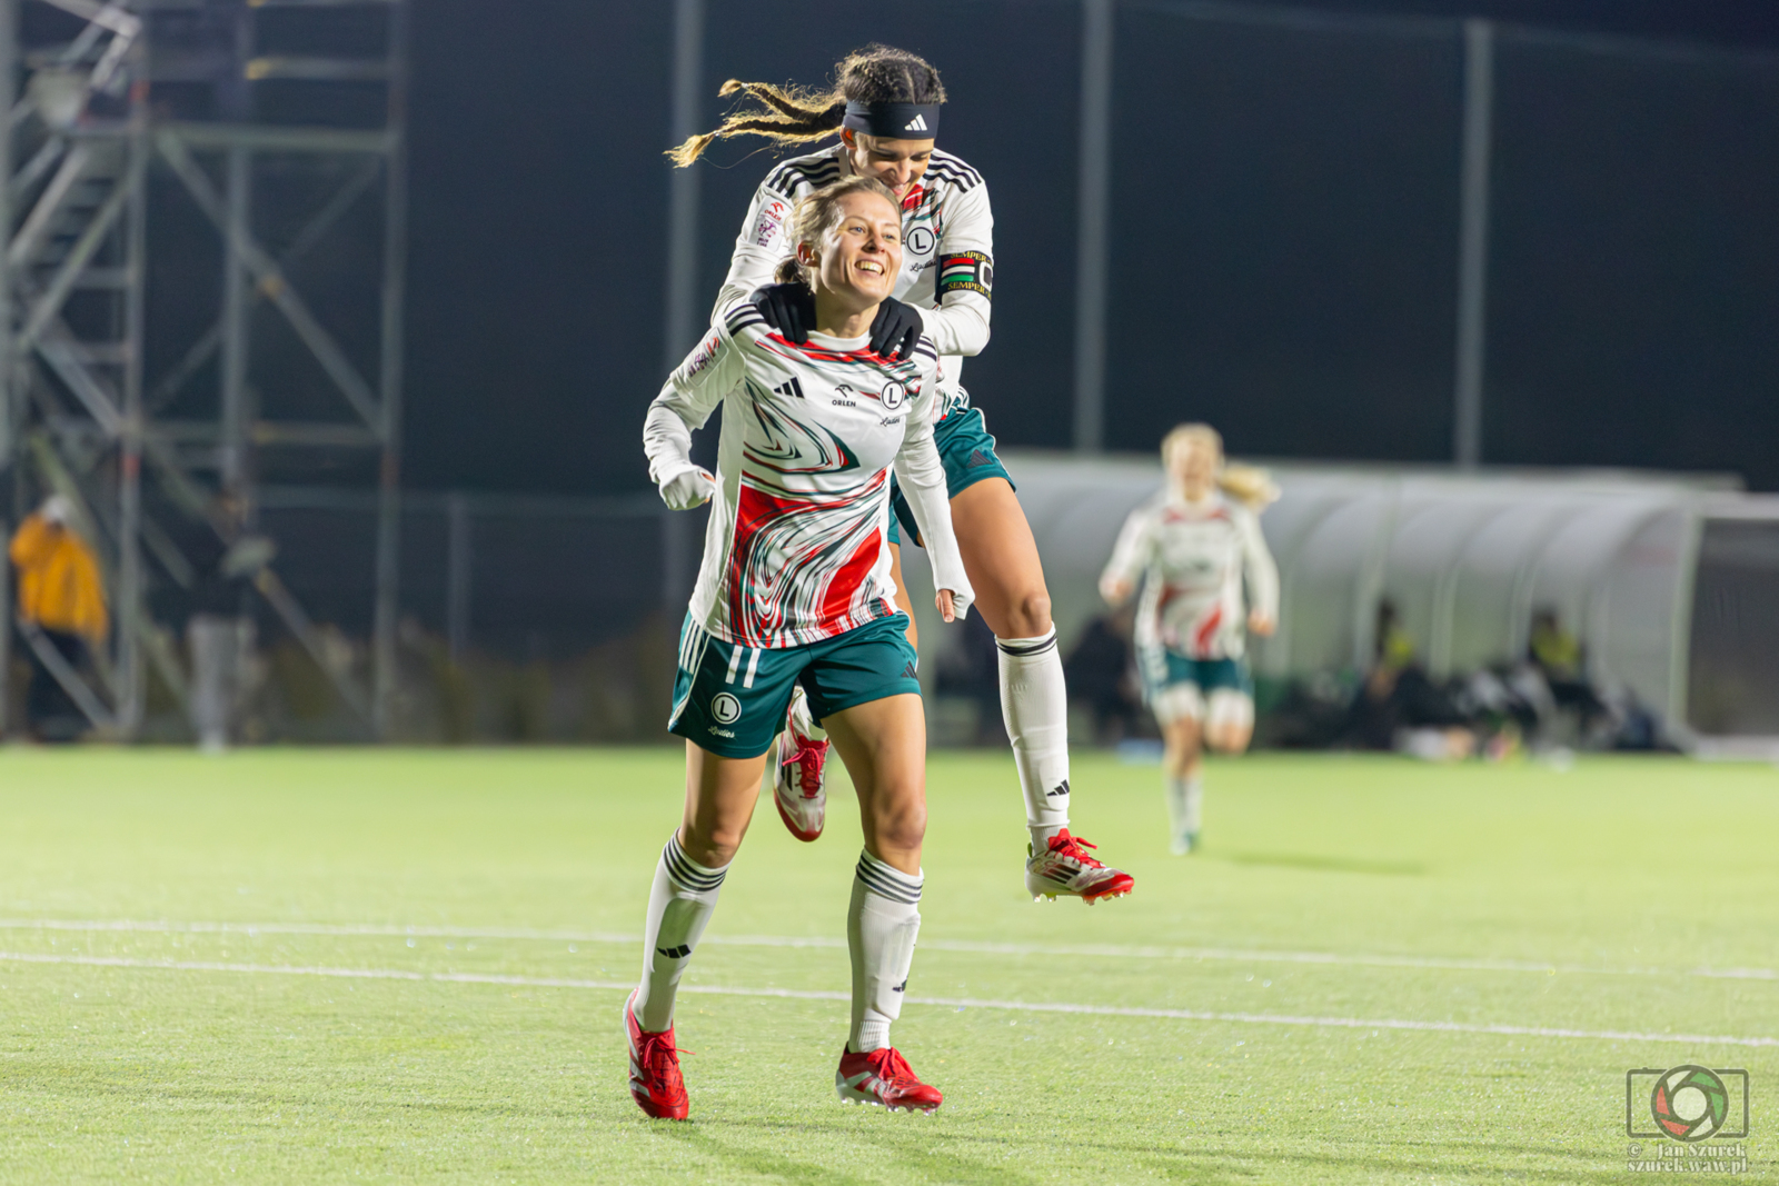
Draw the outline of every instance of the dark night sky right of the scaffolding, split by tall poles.
[[[1119,5],[1108,445],[1149,450],[1210,420],[1235,453],[1446,461],[1455,27],[1176,7]],[[1485,461],[1779,489],[1774,5],[1295,7],[1512,25],[1496,57]],[[415,2],[407,485],[646,489],[671,16]],[[865,41],[939,66],[939,144],[994,199],[994,338],[966,382],[1003,445],[1069,443],[1078,34],[1066,2],[710,0],[706,124],[724,78],[824,82]],[[699,165],[710,297],[770,160],[728,144]]]

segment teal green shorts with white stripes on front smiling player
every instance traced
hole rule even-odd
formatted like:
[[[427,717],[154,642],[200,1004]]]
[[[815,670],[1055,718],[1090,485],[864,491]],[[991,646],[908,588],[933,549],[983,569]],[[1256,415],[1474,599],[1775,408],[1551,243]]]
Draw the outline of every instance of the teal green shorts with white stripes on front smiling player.
[[[667,731],[722,757],[758,757],[785,727],[793,685],[809,697],[809,713],[825,720],[890,695],[920,695],[918,661],[906,613],[779,649],[724,642],[688,613]]]

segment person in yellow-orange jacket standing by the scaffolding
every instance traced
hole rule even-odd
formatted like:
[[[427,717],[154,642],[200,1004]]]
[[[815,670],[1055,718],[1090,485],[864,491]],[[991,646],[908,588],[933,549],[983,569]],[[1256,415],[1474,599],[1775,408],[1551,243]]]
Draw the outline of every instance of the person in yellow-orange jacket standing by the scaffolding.
[[[18,574],[18,621],[41,631],[78,669],[87,647],[105,642],[110,617],[93,548],[69,526],[73,510],[62,494],[46,498],[18,525],[9,555]],[[32,672],[25,715],[32,731],[43,740],[73,740],[85,731],[85,717],[37,653],[27,649],[27,654]]]

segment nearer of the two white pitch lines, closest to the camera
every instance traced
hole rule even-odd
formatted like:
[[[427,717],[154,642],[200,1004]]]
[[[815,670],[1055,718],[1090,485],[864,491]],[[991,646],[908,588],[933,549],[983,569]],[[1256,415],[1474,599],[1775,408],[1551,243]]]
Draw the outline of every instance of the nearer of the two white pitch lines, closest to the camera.
[[[112,955],[37,955],[0,951],[0,962],[62,964],[80,967],[128,967],[180,973],[249,973],[260,976],[338,976],[345,980],[418,980],[434,983],[511,985],[521,989],[601,989],[630,992],[632,982],[569,980],[560,976],[498,976],[486,973],[413,973],[397,967],[302,967],[292,964],[217,964],[210,960],[133,960]],[[680,992],[706,996],[790,998],[799,1001],[850,1001],[849,992],[820,989],[742,989],[729,985],[680,985]],[[1229,1021],[1254,1026],[1315,1026],[1322,1030],[1421,1030],[1429,1033],[1489,1033],[1528,1038],[1590,1038],[1606,1042],[1685,1042],[1688,1046],[1774,1046],[1779,1038],[1710,1033],[1637,1033],[1630,1030],[1566,1030],[1555,1026],[1489,1026],[1464,1021],[1404,1021],[1397,1017],[1293,1017],[1286,1014],[1224,1014],[1192,1008],[1140,1008],[1119,1005],[1071,1005],[1066,1001],[987,1001],[955,996],[911,996],[909,1005],[952,1008],[1002,1008],[1019,1014],[1085,1014],[1092,1017],[1162,1017],[1169,1021]]]

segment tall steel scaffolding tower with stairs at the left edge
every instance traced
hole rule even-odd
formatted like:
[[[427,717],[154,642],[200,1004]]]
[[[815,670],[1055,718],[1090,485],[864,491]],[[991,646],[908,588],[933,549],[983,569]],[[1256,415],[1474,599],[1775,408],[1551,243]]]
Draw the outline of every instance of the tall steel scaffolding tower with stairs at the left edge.
[[[201,525],[222,546],[235,542],[254,528],[262,461],[274,455],[308,469],[375,457],[370,688],[327,654],[276,567],[258,569],[253,585],[368,729],[388,727],[400,526],[406,16],[404,0],[0,0],[0,78],[11,110],[11,135],[0,137],[0,325],[11,331],[0,333],[0,466],[12,475],[14,521],[34,491],[71,500],[76,528],[100,553],[116,621],[110,647],[94,656],[96,686],[34,631],[20,637],[112,736],[141,727],[149,669],[187,699],[176,624],[149,612],[153,590],[190,589],[201,576],[171,519]],[[263,101],[270,89],[276,101]],[[174,185],[155,188],[169,178]],[[326,197],[269,247],[265,206],[278,199],[288,208],[317,188]],[[221,276],[190,242],[162,244],[151,196],[157,219],[173,196],[196,206],[219,247]],[[356,268],[366,274],[361,283],[375,284],[377,325],[366,334],[363,325],[329,325],[292,268],[372,196],[382,206],[381,251],[327,258],[334,272]],[[144,331],[160,311],[149,308],[151,274],[192,292],[205,288],[206,270],[219,292],[213,324],[162,373],[144,373]],[[302,386],[288,352],[278,373],[256,377],[251,366],[258,306],[276,311],[279,333],[318,366],[306,402],[297,400],[301,414],[276,407],[290,404],[279,398],[281,382]],[[5,670],[11,631],[0,635]]]

